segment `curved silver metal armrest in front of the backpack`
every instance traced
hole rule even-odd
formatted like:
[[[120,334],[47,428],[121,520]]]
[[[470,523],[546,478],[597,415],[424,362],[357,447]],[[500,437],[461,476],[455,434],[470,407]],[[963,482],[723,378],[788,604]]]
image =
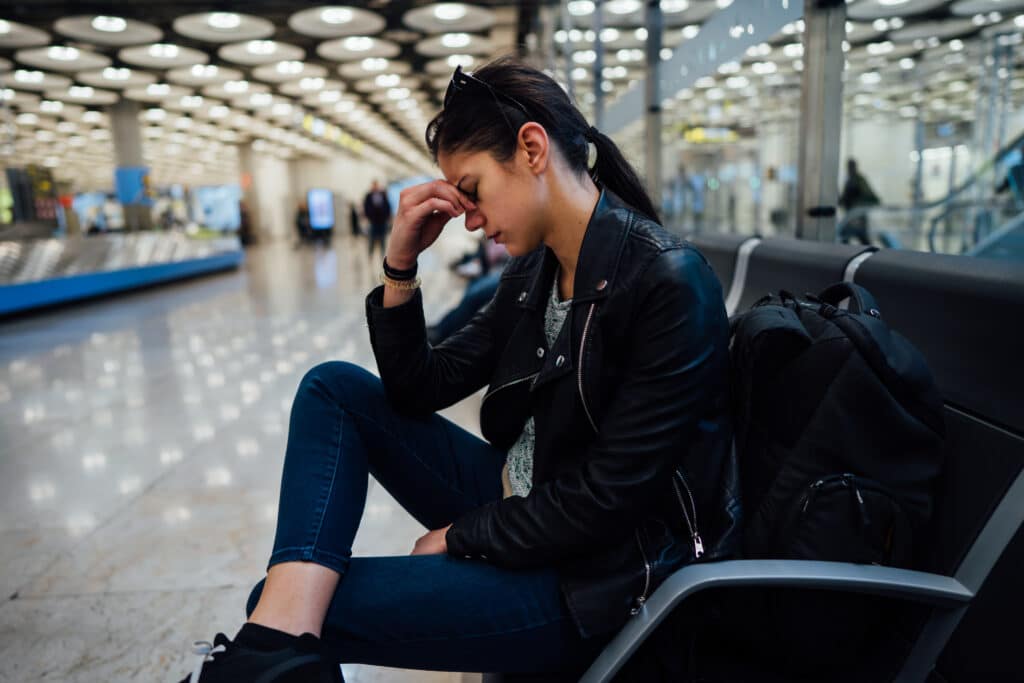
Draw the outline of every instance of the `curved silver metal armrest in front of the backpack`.
[[[669,577],[640,612],[605,646],[580,683],[606,683],[687,596],[712,588],[778,586],[867,593],[940,607],[974,594],[955,579],[873,564],[811,560],[729,560],[691,564]]]

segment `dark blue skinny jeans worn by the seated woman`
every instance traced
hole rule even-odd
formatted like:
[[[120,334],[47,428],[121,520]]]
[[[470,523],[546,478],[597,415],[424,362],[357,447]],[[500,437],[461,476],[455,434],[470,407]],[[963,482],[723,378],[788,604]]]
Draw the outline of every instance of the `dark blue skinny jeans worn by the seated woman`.
[[[604,642],[580,637],[554,569],[449,555],[351,557],[368,475],[435,529],[501,498],[504,463],[504,453],[437,415],[396,414],[381,381],[357,366],[326,362],[306,374],[292,407],[270,565],[300,560],[341,574],[323,632],[339,661],[586,670]]]

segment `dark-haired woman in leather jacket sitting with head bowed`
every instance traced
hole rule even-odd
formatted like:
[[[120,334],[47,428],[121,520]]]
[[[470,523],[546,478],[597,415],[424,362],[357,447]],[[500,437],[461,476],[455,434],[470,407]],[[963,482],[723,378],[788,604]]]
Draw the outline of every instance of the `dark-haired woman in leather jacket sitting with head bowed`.
[[[728,325],[705,259],[535,69],[457,70],[426,139],[445,180],[401,194],[367,298],[381,379],[329,362],[302,380],[265,583],[201,683],[337,681],[339,661],[578,677],[669,573],[732,545]],[[463,214],[514,258],[434,348],[417,256]],[[485,385],[485,441],[436,415]],[[433,529],[412,556],[350,557],[368,473]]]

